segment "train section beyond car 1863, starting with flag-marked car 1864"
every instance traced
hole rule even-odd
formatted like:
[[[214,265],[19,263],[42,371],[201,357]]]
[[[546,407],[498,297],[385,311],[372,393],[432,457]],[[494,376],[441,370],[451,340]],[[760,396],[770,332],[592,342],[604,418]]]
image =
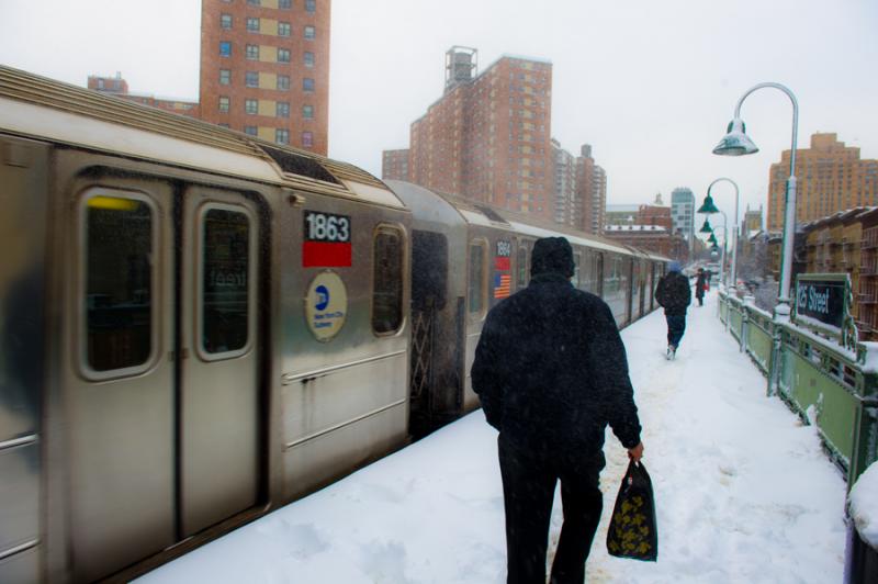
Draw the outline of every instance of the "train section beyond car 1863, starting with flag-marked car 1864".
[[[487,311],[530,280],[540,237],[573,246],[573,284],[600,295],[622,327],[651,312],[667,258],[402,181],[412,210],[410,431],[419,436],[479,406],[470,368]]]

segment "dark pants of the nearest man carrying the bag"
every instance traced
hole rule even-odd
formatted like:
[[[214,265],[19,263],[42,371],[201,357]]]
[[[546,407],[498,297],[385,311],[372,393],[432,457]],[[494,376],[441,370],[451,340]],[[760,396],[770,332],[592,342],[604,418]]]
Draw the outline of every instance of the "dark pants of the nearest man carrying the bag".
[[[549,523],[559,480],[564,524],[551,582],[582,584],[604,506],[598,486],[600,468],[583,459],[564,461],[559,452],[526,452],[503,435],[497,443],[506,506],[507,584],[545,584]]]

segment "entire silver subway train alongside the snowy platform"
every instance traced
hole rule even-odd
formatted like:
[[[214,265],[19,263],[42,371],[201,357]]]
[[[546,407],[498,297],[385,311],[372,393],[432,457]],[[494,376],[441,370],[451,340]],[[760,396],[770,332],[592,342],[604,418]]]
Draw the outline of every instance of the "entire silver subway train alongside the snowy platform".
[[[479,406],[526,216],[0,67],[0,582],[127,580]],[[666,258],[565,234],[618,324]]]

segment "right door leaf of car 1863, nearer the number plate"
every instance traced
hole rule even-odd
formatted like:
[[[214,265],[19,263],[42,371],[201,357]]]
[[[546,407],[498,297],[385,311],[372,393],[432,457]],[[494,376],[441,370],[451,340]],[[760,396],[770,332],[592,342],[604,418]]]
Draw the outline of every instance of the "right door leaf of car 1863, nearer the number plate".
[[[180,504],[189,537],[256,504],[259,221],[227,192],[190,189],[182,213]]]

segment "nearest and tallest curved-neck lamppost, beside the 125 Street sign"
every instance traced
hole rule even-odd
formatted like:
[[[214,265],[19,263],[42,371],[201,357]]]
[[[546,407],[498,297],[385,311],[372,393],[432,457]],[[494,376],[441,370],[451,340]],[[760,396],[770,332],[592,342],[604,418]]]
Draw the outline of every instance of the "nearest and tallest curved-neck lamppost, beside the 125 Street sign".
[[[759,151],[753,141],[746,135],[744,122],[741,120],[741,104],[744,100],[764,87],[772,87],[779,89],[787,94],[790,102],[792,102],[792,147],[789,155],[789,178],[787,179],[787,200],[784,213],[784,242],[781,252],[781,269],[780,269],[780,295],[777,299],[778,305],[775,313],[778,315],[789,315],[789,288],[790,280],[792,279],[792,248],[796,237],[796,137],[799,130],[799,102],[796,101],[796,96],[792,94],[785,86],[780,83],[759,83],[748,89],[741,99],[738,100],[738,105],[734,109],[734,119],[729,123],[725,136],[720,141],[713,154],[722,156],[741,156],[745,154],[755,154]]]

